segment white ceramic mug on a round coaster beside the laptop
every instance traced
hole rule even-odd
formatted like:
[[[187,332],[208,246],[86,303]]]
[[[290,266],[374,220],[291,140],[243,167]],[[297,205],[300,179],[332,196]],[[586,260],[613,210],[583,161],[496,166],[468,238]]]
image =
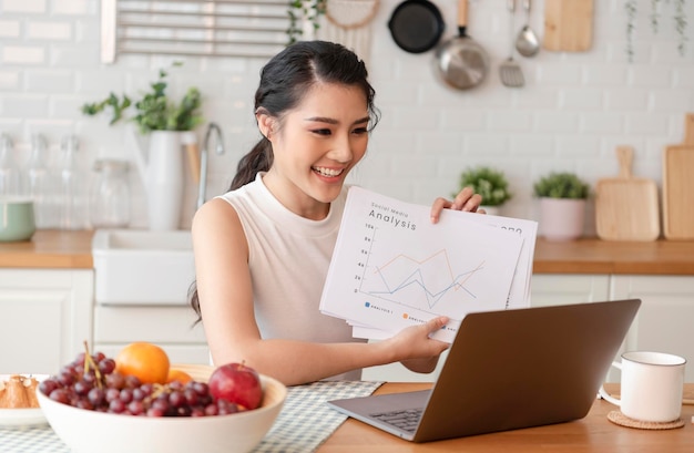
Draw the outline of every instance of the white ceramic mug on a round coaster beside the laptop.
[[[619,405],[630,419],[672,422],[682,413],[685,363],[684,358],[664,352],[624,352],[621,363],[612,362],[622,370],[620,399],[610,395],[604,387],[600,388],[600,395]]]

